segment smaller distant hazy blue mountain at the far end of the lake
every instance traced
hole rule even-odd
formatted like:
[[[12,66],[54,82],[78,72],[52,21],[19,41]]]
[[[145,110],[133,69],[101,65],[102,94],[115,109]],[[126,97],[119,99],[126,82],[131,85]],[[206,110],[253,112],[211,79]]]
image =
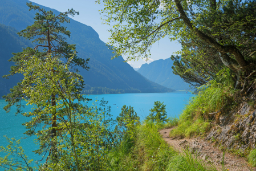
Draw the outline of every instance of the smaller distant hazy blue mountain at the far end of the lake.
[[[172,59],[159,59],[149,64],[143,64],[137,72],[152,82],[168,88],[175,90],[189,89],[188,83],[185,83],[180,76],[173,74],[172,66]]]

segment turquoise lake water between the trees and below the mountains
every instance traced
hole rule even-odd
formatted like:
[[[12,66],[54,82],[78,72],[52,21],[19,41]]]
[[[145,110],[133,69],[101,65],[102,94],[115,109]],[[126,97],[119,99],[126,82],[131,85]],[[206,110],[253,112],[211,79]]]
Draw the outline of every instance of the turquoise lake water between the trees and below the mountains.
[[[111,94],[111,95],[89,95],[88,98],[92,100],[104,100],[108,101],[108,105],[111,106],[111,114],[113,119],[119,115],[121,112],[121,107],[123,105],[131,105],[133,109],[143,120],[146,116],[149,115],[153,107],[154,101],[164,101],[166,105],[166,112],[168,117],[178,116],[182,108],[188,102],[189,97],[192,97],[193,94],[185,91],[171,92],[171,93],[131,93],[131,94]],[[115,105],[114,105],[115,104]],[[9,138],[15,137],[15,139],[22,139],[21,145],[25,149],[26,154],[29,158],[34,158],[35,160],[40,160],[40,157],[32,152],[36,149],[34,144],[34,137],[29,137],[23,139],[23,132],[26,131],[25,127],[22,126],[22,123],[28,120],[28,118],[17,115],[15,116],[15,108],[13,107],[9,113],[6,113],[3,110],[3,107],[6,105],[4,100],[0,100],[0,146],[6,146],[7,142],[5,137]],[[26,107],[24,111],[29,111],[30,107]],[[1,153],[0,153],[1,156]],[[2,156],[1,156],[2,157]],[[1,168],[0,168],[1,170]]]

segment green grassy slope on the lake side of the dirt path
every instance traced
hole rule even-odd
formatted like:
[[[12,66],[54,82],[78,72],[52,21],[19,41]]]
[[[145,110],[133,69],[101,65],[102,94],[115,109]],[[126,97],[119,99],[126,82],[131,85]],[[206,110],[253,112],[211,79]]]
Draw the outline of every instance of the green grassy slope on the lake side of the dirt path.
[[[159,129],[166,124],[144,123],[136,128],[135,139],[126,136],[108,154],[109,170],[217,170],[188,151],[177,152],[162,140]],[[225,170],[225,169],[224,169]]]

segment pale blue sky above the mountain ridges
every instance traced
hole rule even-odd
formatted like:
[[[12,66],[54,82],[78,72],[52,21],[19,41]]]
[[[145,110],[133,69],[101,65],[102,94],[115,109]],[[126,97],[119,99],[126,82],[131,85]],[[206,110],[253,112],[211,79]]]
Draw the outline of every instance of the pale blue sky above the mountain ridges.
[[[79,11],[72,19],[81,22],[87,26],[91,26],[99,34],[100,39],[107,43],[110,36],[107,31],[110,27],[103,25],[100,19],[101,15],[99,10],[104,8],[103,4],[95,3],[95,0],[30,0],[31,2],[38,3],[39,5],[50,7],[58,11],[67,11],[73,8]],[[72,32],[71,32],[72,34]],[[154,60],[170,58],[174,52],[181,50],[181,45],[178,42],[170,42],[168,38],[162,38],[159,42],[153,44],[151,48],[151,59],[147,62],[140,59],[138,61],[128,62],[133,68],[141,67],[141,64],[151,63]],[[124,59],[125,56],[123,56]]]

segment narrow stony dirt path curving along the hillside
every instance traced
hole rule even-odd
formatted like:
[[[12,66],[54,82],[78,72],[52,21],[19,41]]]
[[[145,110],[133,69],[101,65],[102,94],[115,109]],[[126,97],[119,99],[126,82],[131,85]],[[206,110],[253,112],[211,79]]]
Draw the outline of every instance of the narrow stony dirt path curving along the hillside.
[[[159,132],[162,135],[162,139],[164,139],[168,144],[172,145],[174,149],[182,150],[185,146],[188,146],[189,149],[198,152],[200,158],[206,162],[214,162],[218,167],[221,168],[221,158],[222,152],[217,147],[213,146],[213,143],[209,141],[205,141],[202,139],[171,139],[169,137],[169,133],[173,128],[161,129]],[[256,170],[256,168],[249,169],[249,165],[245,161],[244,158],[234,156],[230,153],[225,153],[224,164],[229,170],[241,170],[241,171],[249,171]]]

